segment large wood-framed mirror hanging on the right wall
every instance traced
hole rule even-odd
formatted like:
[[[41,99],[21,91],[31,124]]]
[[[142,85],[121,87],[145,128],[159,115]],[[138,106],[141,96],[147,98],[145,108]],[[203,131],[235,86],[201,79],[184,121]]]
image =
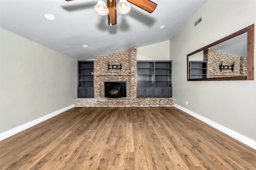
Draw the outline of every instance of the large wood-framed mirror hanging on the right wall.
[[[254,80],[254,24],[188,54],[187,80]]]

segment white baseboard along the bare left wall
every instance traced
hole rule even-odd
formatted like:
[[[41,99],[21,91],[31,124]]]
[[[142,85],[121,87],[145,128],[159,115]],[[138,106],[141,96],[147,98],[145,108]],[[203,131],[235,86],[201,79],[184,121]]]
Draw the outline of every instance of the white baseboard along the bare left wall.
[[[35,119],[35,120],[33,120],[33,121],[30,121],[30,122],[28,122],[28,123],[25,123],[24,125],[20,125],[20,126],[18,126],[18,127],[15,127],[15,128],[13,128],[13,129],[8,130],[8,131],[5,131],[5,132],[3,132],[3,133],[0,134],[0,141],[2,141],[3,139],[6,139],[6,138],[8,138],[8,137],[10,137],[10,136],[12,136],[12,135],[15,135],[16,133],[19,133],[19,132],[21,132],[21,131],[24,131],[25,129],[28,129],[28,128],[30,128],[30,127],[32,127],[32,126],[38,124],[38,123],[41,123],[42,121],[45,121],[45,120],[47,120],[47,119],[50,119],[51,117],[54,117],[54,116],[56,116],[56,115],[58,115],[58,114],[60,114],[60,113],[62,113],[62,112],[64,112],[64,111],[66,111],[66,110],[68,110],[68,109],[71,109],[71,108],[73,108],[73,107],[74,107],[74,104],[72,104],[72,105],[70,105],[70,106],[67,106],[67,107],[64,107],[64,108],[62,108],[62,109],[59,109],[59,110],[57,110],[57,111],[54,111],[54,112],[52,112],[52,113],[50,113],[50,114],[48,114],[48,115],[45,115],[45,116],[43,116],[43,117],[40,117],[40,118]]]

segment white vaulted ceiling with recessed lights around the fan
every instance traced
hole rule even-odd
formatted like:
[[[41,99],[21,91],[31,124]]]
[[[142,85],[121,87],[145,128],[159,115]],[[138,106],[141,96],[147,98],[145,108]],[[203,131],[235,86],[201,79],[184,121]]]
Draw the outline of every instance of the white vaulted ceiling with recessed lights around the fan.
[[[130,13],[117,13],[117,24],[110,26],[108,16],[94,12],[98,0],[0,0],[0,27],[74,59],[88,60],[169,40],[207,0],[152,1],[158,4],[152,14],[131,4]],[[47,20],[45,14],[55,20]],[[160,29],[161,25],[165,27]]]

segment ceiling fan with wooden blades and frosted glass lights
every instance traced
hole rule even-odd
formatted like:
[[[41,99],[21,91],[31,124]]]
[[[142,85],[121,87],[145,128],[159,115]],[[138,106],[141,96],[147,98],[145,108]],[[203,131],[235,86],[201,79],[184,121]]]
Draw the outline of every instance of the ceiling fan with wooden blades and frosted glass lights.
[[[66,0],[71,1],[71,0]],[[108,24],[115,25],[116,24],[116,11],[120,14],[127,14],[131,10],[131,6],[128,2],[138,6],[139,8],[152,13],[157,4],[150,0],[120,0],[116,5],[116,0],[108,0],[107,4],[104,0],[99,0],[98,3],[94,6],[94,10],[102,16],[108,15]]]

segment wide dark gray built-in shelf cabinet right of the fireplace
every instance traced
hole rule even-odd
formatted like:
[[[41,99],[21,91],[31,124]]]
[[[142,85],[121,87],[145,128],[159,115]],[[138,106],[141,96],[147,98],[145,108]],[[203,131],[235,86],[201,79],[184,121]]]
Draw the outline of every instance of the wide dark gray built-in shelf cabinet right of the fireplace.
[[[137,61],[137,98],[172,97],[172,61]]]

